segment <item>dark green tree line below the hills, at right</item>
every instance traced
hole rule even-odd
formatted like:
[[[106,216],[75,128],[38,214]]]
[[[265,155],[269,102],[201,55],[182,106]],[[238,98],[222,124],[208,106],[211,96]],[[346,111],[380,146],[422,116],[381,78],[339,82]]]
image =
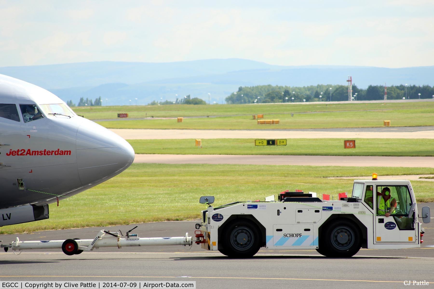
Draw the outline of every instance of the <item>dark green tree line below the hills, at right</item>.
[[[357,101],[383,100],[385,87],[369,85],[358,88],[352,85],[352,98]],[[434,98],[434,88],[429,85],[391,85],[387,87],[387,99]],[[348,86],[318,84],[303,87],[257,85],[238,88],[225,98],[227,104],[348,101]]]

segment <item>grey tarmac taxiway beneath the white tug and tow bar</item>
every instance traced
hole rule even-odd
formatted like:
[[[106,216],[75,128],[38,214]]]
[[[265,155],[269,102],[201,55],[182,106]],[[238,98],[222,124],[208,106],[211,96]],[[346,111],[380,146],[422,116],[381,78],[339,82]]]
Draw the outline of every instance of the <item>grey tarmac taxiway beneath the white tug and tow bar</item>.
[[[433,203],[421,203],[433,207]],[[137,224],[139,237],[194,234],[196,221]],[[135,224],[105,227],[124,234]],[[100,248],[66,256],[59,250],[0,253],[1,281],[195,281],[196,288],[398,288],[404,281],[434,282],[434,224],[424,224],[421,248],[360,250],[355,257],[333,259],[316,250],[261,249],[250,259],[230,259],[194,244]],[[2,235],[4,241],[93,239],[102,227]],[[404,287],[403,287],[404,288]]]

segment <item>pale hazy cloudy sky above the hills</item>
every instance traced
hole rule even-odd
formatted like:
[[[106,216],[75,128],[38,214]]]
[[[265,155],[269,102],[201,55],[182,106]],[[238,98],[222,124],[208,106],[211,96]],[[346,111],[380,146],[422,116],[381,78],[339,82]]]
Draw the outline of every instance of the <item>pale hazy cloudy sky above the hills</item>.
[[[434,65],[434,1],[0,0],[0,67],[207,58]]]

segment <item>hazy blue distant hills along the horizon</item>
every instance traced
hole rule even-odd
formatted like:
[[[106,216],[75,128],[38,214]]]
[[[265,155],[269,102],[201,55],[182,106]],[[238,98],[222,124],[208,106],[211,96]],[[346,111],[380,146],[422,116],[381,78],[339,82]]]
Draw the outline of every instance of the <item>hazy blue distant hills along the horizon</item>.
[[[63,100],[102,97],[103,104],[126,105],[174,101],[176,95],[222,103],[240,86],[261,84],[307,86],[346,85],[348,75],[359,88],[368,85],[433,85],[434,66],[378,68],[357,66],[279,66],[246,59],[187,62],[85,62],[2,67],[0,73],[52,91]],[[107,99],[107,101],[106,101]]]

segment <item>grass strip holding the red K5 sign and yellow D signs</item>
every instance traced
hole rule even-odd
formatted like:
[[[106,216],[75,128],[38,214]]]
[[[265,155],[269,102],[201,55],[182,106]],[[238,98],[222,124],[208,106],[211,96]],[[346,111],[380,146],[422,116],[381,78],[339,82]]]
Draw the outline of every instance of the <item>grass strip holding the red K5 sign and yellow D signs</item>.
[[[286,146],[255,146],[254,139],[128,140],[135,153],[313,156],[434,156],[432,139],[355,139],[355,149],[344,149],[344,139],[287,139]]]

